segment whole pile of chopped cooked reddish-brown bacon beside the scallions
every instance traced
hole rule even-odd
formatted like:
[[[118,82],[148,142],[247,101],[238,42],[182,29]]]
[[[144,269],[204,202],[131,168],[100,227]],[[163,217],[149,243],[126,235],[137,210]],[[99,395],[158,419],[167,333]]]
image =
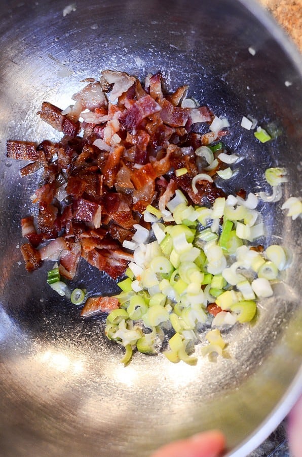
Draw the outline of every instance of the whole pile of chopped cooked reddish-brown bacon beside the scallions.
[[[41,118],[64,134],[59,143],[8,141],[8,157],[32,161],[22,176],[44,169],[32,198],[39,205],[37,232],[32,217],[21,226],[32,246],[53,240],[40,251],[24,245],[26,268],[57,259],[61,274],[71,279],[82,256],[116,279],[132,259],[122,243],[132,238],[133,225],[150,228],[142,216],[148,204],[158,199],[160,209],[166,208],[176,188],[196,204],[224,196],[208,181],[193,192],[192,179],[203,171],[194,151],[228,131],[196,133],[193,124],[209,122],[212,113],[207,107],[179,107],[186,90],[164,95],[160,74],[148,75],[143,87],[126,73],[105,70],[100,82],[91,80],[73,95],[75,104],[64,112],[42,104]],[[83,138],[77,136],[80,127]],[[187,173],[176,178],[173,171],[184,167]]]

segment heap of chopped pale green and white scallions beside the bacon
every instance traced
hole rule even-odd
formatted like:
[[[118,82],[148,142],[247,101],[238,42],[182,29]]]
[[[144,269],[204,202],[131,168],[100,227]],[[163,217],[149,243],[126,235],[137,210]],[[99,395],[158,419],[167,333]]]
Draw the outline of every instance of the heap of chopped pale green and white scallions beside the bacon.
[[[133,250],[134,260],[119,283],[121,308],[106,321],[107,337],[125,347],[123,363],[134,349],[157,354],[167,335],[168,360],[194,365],[200,330],[210,325],[217,329],[206,337],[209,345],[202,352],[223,356],[219,329],[251,321],[256,301],[272,296],[271,281],[287,263],[281,246],[262,253],[250,249],[250,241],[265,235],[257,203],[250,193],[246,200],[230,195],[217,198],[211,208],[196,207],[177,190],[168,210],[148,205],[144,217],[152,215],[156,222],[151,233],[136,224],[124,246]],[[172,224],[165,224],[167,215]],[[220,307],[214,318],[207,310],[210,303]]]

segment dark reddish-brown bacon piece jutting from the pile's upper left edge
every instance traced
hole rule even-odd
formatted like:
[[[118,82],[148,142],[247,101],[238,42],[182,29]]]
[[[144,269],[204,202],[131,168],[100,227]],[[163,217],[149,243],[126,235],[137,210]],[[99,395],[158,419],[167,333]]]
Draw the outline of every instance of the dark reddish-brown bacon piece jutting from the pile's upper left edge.
[[[43,102],[40,114],[41,119],[50,124],[53,128],[59,132],[63,132],[65,135],[75,137],[78,135],[80,130],[79,122],[72,122],[66,116],[63,116],[60,108],[52,105],[49,102]]]

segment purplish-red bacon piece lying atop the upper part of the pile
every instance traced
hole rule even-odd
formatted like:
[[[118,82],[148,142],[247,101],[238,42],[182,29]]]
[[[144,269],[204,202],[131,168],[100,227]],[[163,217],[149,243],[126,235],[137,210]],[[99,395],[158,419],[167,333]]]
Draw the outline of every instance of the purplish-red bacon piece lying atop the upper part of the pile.
[[[160,105],[156,103],[150,95],[146,95],[128,108],[124,114],[122,114],[120,117],[120,123],[126,128],[126,130],[128,130],[128,132],[135,134],[138,126],[145,117],[157,113],[160,110]]]

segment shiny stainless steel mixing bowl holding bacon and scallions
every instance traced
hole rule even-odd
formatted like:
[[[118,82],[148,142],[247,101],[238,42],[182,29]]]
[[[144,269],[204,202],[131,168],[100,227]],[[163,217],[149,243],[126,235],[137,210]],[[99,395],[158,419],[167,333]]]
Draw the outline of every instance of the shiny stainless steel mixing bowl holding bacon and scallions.
[[[66,0],[0,1],[2,455],[142,457],[170,440],[219,428],[228,455],[243,456],[297,398],[301,220],[286,218],[279,204],[262,204],[268,240],[293,251],[292,266],[274,297],[261,303],[257,323],[226,335],[231,358],[217,363],[200,358],[190,367],[135,354],[124,368],[101,318],[83,320],[52,292],[47,265],[29,275],[19,264],[19,220],[33,211],[39,176],[20,178],[20,164],[5,157],[6,140],[59,138],[35,115],[42,101],[65,108],[81,80],[101,69],[140,77],[162,71],[168,88],[188,83],[191,96],[227,115],[226,141],[246,158],[226,190],[267,188],[265,169],[285,166],[285,198],[301,194],[299,56],[258,6],[244,3],[78,0],[64,16]],[[239,126],[247,114],[275,122],[282,135],[260,145]],[[75,282],[94,292],[114,288],[84,263]]]

